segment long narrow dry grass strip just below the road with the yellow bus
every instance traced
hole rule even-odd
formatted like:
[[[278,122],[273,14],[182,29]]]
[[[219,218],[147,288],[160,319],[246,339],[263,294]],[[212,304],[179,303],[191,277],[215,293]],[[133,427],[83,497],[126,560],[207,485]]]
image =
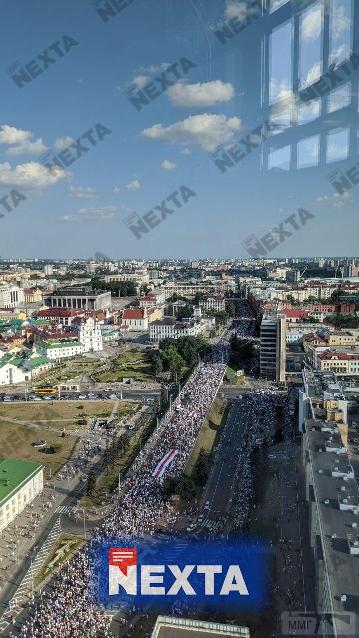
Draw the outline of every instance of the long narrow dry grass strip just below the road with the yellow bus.
[[[126,404],[127,405],[127,404]],[[82,408],[79,408],[82,406]],[[28,401],[27,403],[1,404],[0,417],[19,421],[50,421],[59,419],[79,419],[86,413],[89,418],[99,413],[110,412],[114,401]],[[119,408],[122,405],[119,404]]]

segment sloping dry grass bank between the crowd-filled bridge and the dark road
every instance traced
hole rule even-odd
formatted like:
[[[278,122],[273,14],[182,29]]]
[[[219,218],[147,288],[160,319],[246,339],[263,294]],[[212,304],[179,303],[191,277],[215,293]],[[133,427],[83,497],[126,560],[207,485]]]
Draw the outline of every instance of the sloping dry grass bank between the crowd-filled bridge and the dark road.
[[[194,449],[192,450],[192,454],[188,459],[188,463],[185,468],[186,476],[192,479],[195,478],[194,467],[201,447],[208,452],[211,452],[213,447],[217,445],[220,433],[225,424],[228,410],[229,403],[216,397],[213,401],[210,412],[204,420],[204,424],[202,425],[201,432],[199,433],[199,437],[197,438]]]

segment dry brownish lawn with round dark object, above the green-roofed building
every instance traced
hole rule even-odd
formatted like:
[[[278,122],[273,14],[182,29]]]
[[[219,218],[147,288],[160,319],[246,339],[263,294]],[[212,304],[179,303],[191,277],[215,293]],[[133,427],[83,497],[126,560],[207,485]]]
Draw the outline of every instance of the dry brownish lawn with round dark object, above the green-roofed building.
[[[43,439],[49,445],[58,443],[61,450],[56,454],[46,454],[31,443]],[[77,444],[77,436],[65,436],[58,432],[40,430],[38,427],[22,426],[16,423],[0,421],[1,456],[10,459],[22,459],[34,461],[44,466],[45,480],[54,475],[67,463],[72,454],[72,449]]]

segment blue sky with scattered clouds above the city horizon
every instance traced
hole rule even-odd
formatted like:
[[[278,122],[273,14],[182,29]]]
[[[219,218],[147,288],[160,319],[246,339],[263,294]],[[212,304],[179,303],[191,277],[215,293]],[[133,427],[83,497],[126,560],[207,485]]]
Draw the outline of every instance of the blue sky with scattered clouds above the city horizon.
[[[86,258],[96,251],[113,258],[247,256],[241,242],[248,235],[262,237],[298,207],[309,209],[314,219],[270,256],[356,254],[355,188],[339,197],[326,179],[333,168],[348,170],[358,161],[346,159],[346,114],[330,133],[326,163],[319,158],[318,103],[304,115],[301,110],[303,126],[313,126],[298,146],[303,168],[287,170],[289,145],[271,154],[272,170],[261,170],[261,147],[225,174],[208,156],[218,145],[227,149],[239,142],[265,113],[285,119],[276,103],[291,100],[293,19],[270,37],[266,111],[258,98],[260,21],[226,45],[208,27],[218,17],[238,15],[239,4],[134,0],[103,22],[87,0],[3,0],[0,198],[17,189],[27,199],[11,212],[0,207],[1,256]],[[349,5],[333,0],[330,61],[337,64],[349,55]],[[323,19],[320,3],[300,19],[302,87],[321,74]],[[66,53],[65,34],[78,43]],[[61,57],[49,50],[57,40]],[[45,50],[56,61],[20,90],[6,69],[15,61],[24,67]],[[195,64],[186,75],[183,57]],[[174,63],[182,77],[165,71],[176,83],[135,110],[123,92],[133,82],[140,89],[151,80],[160,87],[154,78]],[[43,61],[38,64],[43,68]],[[333,93],[328,112],[335,115],[350,96],[348,85]],[[95,146],[82,139],[89,151],[63,171],[43,167],[43,152],[58,154],[98,123],[111,134]],[[329,124],[320,122],[319,132]],[[265,145],[271,152],[270,140]],[[132,211],[142,217],[183,184],[196,197],[137,240],[124,219]]]

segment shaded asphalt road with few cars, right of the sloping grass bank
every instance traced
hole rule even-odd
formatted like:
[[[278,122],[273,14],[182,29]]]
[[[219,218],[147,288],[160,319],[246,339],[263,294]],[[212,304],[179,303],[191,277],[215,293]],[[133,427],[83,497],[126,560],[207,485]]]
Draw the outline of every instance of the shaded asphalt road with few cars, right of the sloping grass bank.
[[[228,512],[233,494],[233,475],[241,445],[244,442],[248,422],[248,404],[245,399],[234,399],[228,417],[227,435],[215,456],[215,464],[210,480],[202,496],[202,523],[193,533],[204,536],[209,530],[216,530],[220,519]],[[230,441],[230,444],[227,444]],[[227,458],[224,461],[224,458]],[[218,460],[218,464],[216,463]],[[210,501],[210,508],[205,509],[206,501]]]

